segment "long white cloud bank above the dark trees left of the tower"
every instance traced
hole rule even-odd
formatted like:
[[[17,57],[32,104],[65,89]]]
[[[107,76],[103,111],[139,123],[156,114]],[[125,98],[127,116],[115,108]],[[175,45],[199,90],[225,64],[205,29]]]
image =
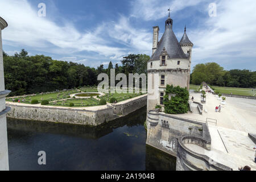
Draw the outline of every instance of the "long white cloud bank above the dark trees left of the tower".
[[[109,42],[100,36],[104,27],[81,33],[71,23],[64,22],[64,26],[59,26],[47,16],[39,17],[36,10],[26,0],[0,1],[1,15],[9,23],[9,27],[3,31],[5,44],[59,54],[92,51],[115,56],[125,51],[107,46]]]

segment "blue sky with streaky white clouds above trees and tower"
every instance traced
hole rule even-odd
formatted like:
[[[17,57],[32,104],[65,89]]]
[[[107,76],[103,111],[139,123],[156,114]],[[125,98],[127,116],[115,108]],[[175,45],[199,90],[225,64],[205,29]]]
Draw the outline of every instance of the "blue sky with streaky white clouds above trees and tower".
[[[151,56],[152,27],[159,26],[160,40],[170,8],[177,40],[186,25],[194,44],[192,67],[216,62],[226,70],[256,71],[255,7],[255,0],[0,0],[0,16],[9,24],[3,50],[13,55],[24,48],[94,68],[120,65],[130,53]]]

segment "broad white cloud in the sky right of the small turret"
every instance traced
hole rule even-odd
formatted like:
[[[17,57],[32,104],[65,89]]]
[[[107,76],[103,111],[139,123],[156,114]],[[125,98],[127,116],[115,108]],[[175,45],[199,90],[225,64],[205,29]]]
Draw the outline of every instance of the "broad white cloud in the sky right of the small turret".
[[[254,0],[218,2],[217,16],[205,19],[207,28],[198,27],[188,32],[189,38],[195,44],[192,61],[211,59],[220,64],[236,64],[245,59],[255,58],[254,7]],[[255,64],[253,66],[255,69]]]

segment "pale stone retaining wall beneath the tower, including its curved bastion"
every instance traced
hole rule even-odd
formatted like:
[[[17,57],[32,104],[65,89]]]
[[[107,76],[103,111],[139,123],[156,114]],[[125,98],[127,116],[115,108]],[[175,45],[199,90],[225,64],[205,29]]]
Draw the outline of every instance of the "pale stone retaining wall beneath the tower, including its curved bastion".
[[[159,109],[147,112],[146,144],[176,156],[177,171],[231,170],[206,155],[189,150],[185,147],[186,143],[210,150],[211,138],[207,123],[159,113]]]

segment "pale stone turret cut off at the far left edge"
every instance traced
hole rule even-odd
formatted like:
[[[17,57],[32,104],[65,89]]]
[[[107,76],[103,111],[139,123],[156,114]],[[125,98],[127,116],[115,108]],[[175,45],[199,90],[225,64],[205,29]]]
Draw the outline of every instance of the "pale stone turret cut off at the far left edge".
[[[5,27],[7,27],[7,23],[0,17],[0,171],[9,170],[6,113],[10,107],[5,106],[5,97],[10,93],[10,90],[5,90],[2,50],[2,30]]]

